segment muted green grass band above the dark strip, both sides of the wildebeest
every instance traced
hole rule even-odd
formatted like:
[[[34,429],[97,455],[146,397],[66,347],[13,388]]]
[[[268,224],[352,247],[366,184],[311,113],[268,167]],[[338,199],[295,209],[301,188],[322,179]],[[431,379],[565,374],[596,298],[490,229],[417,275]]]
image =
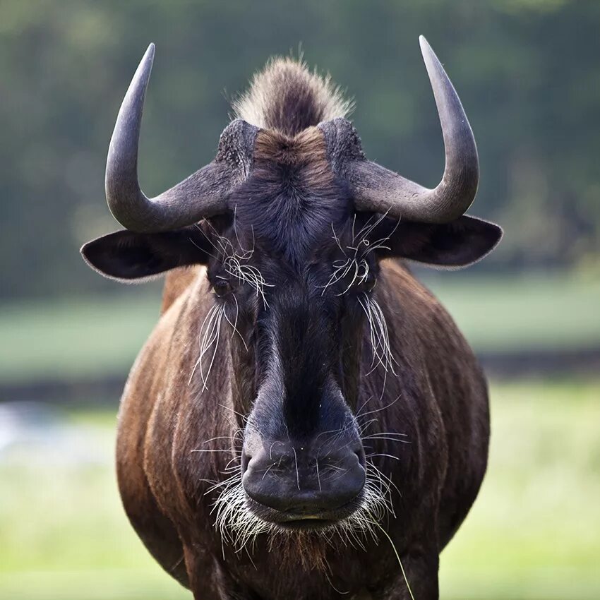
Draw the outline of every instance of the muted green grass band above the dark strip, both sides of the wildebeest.
[[[477,350],[600,347],[600,280],[438,273],[428,283]],[[121,375],[156,323],[160,294],[0,307],[0,381]]]

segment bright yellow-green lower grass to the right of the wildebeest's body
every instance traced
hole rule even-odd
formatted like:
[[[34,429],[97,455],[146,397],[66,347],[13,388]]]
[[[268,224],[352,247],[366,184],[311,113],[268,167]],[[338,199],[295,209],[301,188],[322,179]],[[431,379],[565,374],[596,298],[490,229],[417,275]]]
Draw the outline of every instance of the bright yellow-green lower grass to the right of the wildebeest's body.
[[[449,597],[600,597],[600,382],[493,385],[488,474],[442,554]]]

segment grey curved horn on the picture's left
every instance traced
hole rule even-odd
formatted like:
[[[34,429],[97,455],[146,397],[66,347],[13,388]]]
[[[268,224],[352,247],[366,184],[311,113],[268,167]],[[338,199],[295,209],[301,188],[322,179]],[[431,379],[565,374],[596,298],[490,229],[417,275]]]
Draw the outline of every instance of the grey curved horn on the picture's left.
[[[105,179],[107,202],[115,219],[126,229],[140,233],[178,229],[198,222],[203,217],[224,212],[227,210],[224,196],[236,180],[239,181],[247,172],[244,160],[240,160],[239,156],[232,156],[235,152],[220,151],[221,160],[220,155],[217,155],[217,159],[206,167],[160,196],[148,198],[141,191],[138,183],[138,143],[154,50],[154,44],[150,44],[131,80],[119,116],[116,117]],[[244,121],[234,121],[223,132],[221,143],[224,138],[231,141],[232,134],[236,132],[230,128],[234,126],[238,129],[240,124],[248,125]]]

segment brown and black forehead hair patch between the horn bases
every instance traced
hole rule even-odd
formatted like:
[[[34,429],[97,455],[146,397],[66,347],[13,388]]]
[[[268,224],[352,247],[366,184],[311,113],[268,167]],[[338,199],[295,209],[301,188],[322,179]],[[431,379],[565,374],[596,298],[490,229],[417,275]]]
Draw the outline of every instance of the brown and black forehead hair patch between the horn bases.
[[[233,200],[241,226],[296,268],[349,215],[349,194],[330,168],[316,127],[294,137],[259,131],[251,174]]]

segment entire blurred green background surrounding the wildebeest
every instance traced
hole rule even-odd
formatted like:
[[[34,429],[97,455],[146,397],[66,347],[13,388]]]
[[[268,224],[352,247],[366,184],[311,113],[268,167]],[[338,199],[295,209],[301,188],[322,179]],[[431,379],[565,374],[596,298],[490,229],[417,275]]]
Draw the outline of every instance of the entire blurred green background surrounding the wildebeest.
[[[148,43],[150,194],[212,158],[229,100],[289,52],[349,90],[368,157],[434,185],[421,33],[478,140],[472,213],[505,228],[467,272],[419,270],[491,377],[490,466],[441,597],[599,599],[599,31],[596,0],[2,0],[0,600],[191,597],[133,534],[112,467],[160,284],[124,289],[78,256],[117,229],[104,160]]]

